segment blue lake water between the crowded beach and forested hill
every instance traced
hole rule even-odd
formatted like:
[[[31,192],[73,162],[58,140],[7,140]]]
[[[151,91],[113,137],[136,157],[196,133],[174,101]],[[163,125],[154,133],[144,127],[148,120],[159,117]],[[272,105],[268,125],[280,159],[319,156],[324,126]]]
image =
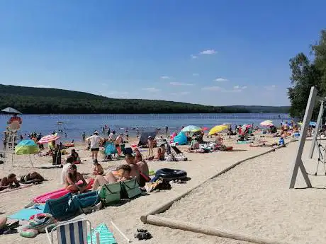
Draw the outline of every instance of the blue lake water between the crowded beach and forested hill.
[[[107,124],[116,132],[124,132],[128,128],[130,136],[146,129],[169,127],[169,132],[181,129],[182,126],[193,124],[199,127],[213,127],[216,124],[254,124],[259,125],[263,120],[273,120],[276,126],[283,121],[290,120],[288,114],[160,114],[160,115],[21,115],[23,124],[21,134],[30,132],[42,132],[43,135],[50,134],[55,130],[64,130],[62,141],[81,140],[82,132],[92,134],[95,129],[101,132],[104,124]],[[0,129],[6,128],[9,115],[0,115]],[[57,125],[57,121],[63,122]]]

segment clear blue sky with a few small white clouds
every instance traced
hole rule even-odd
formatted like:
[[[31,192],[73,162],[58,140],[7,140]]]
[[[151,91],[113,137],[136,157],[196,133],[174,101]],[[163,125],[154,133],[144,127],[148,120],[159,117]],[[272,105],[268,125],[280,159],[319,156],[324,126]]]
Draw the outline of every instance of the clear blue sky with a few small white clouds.
[[[325,8],[325,0],[2,0],[0,83],[288,105],[288,60],[308,54]]]

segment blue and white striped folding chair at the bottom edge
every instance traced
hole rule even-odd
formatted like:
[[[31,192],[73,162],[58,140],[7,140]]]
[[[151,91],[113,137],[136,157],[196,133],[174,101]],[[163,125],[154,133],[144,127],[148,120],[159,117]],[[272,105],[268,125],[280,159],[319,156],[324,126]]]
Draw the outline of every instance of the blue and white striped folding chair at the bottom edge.
[[[87,226],[87,224],[89,226]],[[49,229],[51,230],[49,233]],[[55,244],[53,233],[57,232],[57,244],[87,244],[87,234],[91,237],[91,222],[87,219],[74,219],[59,224],[52,224],[45,229],[51,244]],[[91,243],[93,240],[91,238]],[[96,244],[99,238],[96,238]]]

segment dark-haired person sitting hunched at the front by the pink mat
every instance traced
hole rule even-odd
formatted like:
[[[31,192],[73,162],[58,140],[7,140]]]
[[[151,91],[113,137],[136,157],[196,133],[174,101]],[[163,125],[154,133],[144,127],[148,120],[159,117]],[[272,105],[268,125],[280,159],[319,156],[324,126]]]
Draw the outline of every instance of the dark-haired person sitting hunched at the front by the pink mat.
[[[81,184],[77,185],[77,182],[81,180]],[[85,192],[87,186],[87,182],[84,179],[83,175],[81,173],[77,172],[77,166],[72,164],[69,167],[68,175],[66,178],[66,185],[65,189],[69,192]]]

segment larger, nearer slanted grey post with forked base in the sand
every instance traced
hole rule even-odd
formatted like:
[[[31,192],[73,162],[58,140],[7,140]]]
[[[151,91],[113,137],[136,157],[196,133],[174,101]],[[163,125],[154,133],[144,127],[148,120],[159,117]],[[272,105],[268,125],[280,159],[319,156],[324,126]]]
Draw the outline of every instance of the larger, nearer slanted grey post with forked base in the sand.
[[[300,139],[298,144],[298,149],[296,151],[296,158],[293,162],[292,167],[292,173],[291,173],[291,182],[290,182],[290,188],[294,188],[296,185],[296,178],[298,175],[298,170],[300,168],[301,173],[303,175],[303,178],[305,179],[305,183],[307,184],[307,187],[312,187],[311,182],[308,178],[308,173],[305,170],[305,165],[303,165],[302,161],[302,153],[303,153],[303,147],[305,146],[305,139],[307,137],[309,122],[311,119],[311,116],[313,115],[313,108],[315,107],[315,101],[317,97],[317,89],[315,86],[313,86],[310,89],[310,95],[307,103],[307,108],[305,108],[305,117],[303,117],[303,125],[300,131]]]

